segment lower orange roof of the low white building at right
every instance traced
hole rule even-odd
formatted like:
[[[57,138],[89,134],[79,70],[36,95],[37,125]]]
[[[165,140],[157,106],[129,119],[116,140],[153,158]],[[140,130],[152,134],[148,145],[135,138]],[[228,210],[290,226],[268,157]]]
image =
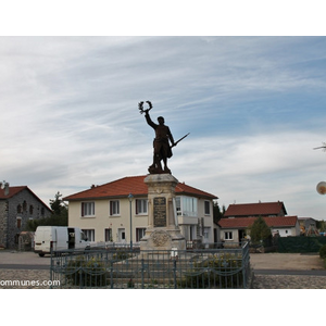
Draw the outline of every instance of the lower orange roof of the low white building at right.
[[[253,224],[258,217],[235,217],[235,218],[221,218],[218,225],[222,228],[246,228]],[[275,216],[263,217],[269,227],[286,227],[296,226],[298,216]]]

